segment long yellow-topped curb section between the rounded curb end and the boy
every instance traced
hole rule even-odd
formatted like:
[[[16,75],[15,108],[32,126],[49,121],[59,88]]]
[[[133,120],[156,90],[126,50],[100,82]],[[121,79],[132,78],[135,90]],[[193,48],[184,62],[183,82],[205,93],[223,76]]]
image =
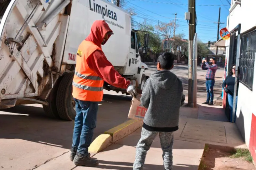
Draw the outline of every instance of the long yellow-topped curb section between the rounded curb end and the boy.
[[[117,140],[122,139],[133,133],[135,130],[141,127],[142,124],[142,121],[128,120],[112,129],[107,130],[104,134],[111,135],[113,137],[112,143],[114,143]]]

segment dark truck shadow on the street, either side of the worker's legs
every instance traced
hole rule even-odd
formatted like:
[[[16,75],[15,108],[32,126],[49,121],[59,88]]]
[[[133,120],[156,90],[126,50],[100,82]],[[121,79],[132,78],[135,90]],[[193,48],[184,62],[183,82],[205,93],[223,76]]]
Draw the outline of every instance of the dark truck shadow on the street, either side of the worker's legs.
[[[130,100],[129,96],[104,95],[103,101],[99,103],[93,140],[127,120]],[[70,149],[73,127],[73,121],[46,117],[39,104],[0,110],[0,144],[1,139],[22,139]]]

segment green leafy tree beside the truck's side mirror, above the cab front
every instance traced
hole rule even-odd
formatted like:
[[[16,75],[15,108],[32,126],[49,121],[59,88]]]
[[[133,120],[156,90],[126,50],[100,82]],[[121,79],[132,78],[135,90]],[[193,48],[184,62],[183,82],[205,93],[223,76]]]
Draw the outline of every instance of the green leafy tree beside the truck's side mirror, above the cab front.
[[[157,32],[155,32],[154,26],[152,26],[146,20],[144,20],[143,22],[140,23],[140,25],[138,25],[137,29],[140,30],[137,32],[139,44],[143,45],[143,43],[144,43],[143,41],[144,41],[145,32],[141,32],[141,31],[147,31],[147,32],[149,32],[148,47],[150,47],[150,49],[155,53],[158,53],[162,50],[161,37]]]

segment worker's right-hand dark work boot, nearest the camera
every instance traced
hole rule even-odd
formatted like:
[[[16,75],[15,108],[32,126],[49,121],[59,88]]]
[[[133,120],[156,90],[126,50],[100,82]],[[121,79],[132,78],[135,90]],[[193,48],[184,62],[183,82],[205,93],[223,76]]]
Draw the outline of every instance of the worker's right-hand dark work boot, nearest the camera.
[[[97,159],[91,159],[90,153],[88,155],[82,155],[81,153],[76,153],[74,157],[74,164],[76,166],[85,166],[85,167],[96,167],[99,165]]]

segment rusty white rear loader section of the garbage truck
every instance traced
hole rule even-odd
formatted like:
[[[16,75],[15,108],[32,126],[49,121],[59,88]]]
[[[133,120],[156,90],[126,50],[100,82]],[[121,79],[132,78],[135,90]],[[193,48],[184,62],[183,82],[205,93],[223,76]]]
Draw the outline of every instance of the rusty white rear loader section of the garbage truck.
[[[9,0],[10,1],[10,0]],[[1,2],[1,0],[0,0]],[[0,103],[44,100],[60,72],[69,0],[11,0],[0,16]],[[1,3],[0,3],[1,5]]]

